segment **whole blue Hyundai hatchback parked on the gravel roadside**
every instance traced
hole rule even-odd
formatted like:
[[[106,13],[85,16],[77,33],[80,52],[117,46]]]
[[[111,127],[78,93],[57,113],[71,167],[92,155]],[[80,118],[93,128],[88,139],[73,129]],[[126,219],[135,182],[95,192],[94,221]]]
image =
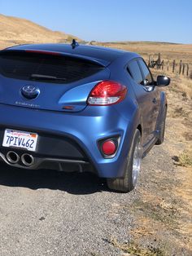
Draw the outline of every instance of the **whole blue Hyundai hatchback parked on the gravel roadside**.
[[[167,100],[140,55],[32,44],[0,51],[0,159],[25,169],[89,171],[131,191],[164,141]]]

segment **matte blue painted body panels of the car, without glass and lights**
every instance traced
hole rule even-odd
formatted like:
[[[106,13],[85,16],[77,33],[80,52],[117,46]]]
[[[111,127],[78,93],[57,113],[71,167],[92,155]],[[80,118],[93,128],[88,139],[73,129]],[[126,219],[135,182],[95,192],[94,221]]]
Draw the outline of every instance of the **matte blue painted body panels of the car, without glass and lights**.
[[[24,49],[79,55],[89,60],[106,62],[107,68],[91,77],[69,84],[30,82],[40,89],[37,99],[24,99],[20,95],[20,88],[28,84],[28,81],[0,75],[0,128],[72,139],[85,152],[98,176],[123,177],[125,160],[137,126],[142,126],[144,151],[158,139],[162,109],[166,104],[164,92],[159,89],[146,92],[142,86],[133,82],[127,73],[125,65],[139,55],[94,46],[77,46],[73,51],[71,46],[57,44],[15,46],[8,51]],[[120,104],[111,106],[87,105],[89,92],[99,81],[106,79],[127,86],[126,98]],[[154,97],[158,99],[156,105],[152,103]],[[64,111],[62,107],[68,105],[74,106],[74,109]],[[106,159],[99,151],[98,141],[114,136],[120,137],[118,151],[115,157]]]

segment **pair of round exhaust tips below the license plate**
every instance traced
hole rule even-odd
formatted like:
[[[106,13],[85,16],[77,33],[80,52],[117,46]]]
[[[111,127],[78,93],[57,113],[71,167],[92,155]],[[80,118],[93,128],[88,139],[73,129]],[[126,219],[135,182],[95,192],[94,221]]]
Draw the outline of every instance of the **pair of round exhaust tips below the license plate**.
[[[7,161],[9,161],[11,164],[16,164],[20,160],[24,164],[24,166],[33,166],[35,163],[35,159],[32,155],[29,154],[23,154],[21,157],[14,151],[7,152]]]

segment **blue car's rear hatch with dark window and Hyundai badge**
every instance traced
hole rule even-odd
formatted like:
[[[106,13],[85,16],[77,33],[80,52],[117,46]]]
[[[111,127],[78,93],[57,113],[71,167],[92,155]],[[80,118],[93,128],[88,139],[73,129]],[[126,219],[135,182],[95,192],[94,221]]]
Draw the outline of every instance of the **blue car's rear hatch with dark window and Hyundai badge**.
[[[52,51],[0,51],[0,104],[81,111],[110,71],[102,61]],[[36,92],[36,94],[34,93]]]

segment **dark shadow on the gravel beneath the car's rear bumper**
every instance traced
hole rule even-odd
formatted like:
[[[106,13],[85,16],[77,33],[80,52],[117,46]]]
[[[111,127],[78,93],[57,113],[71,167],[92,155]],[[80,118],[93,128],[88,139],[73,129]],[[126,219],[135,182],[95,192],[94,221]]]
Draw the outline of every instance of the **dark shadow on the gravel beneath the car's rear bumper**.
[[[64,173],[56,170],[25,170],[0,163],[0,185],[30,189],[49,188],[72,194],[108,191],[105,179],[91,173]]]

